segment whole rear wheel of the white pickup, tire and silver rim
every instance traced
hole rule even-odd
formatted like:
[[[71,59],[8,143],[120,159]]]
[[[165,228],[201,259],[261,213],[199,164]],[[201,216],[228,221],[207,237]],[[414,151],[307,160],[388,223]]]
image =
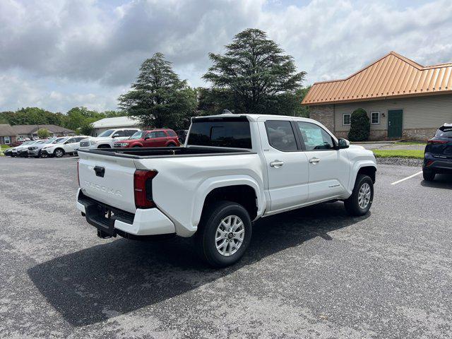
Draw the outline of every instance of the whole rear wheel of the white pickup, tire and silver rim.
[[[231,201],[208,206],[196,232],[196,246],[211,266],[230,266],[242,258],[251,241],[251,219],[245,208]]]

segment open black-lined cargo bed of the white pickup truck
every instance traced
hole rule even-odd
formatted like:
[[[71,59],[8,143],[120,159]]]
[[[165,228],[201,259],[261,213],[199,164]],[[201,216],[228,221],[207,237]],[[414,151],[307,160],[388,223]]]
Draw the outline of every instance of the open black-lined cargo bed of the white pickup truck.
[[[244,148],[222,147],[159,147],[159,148],[102,148],[97,150],[78,150],[80,153],[111,155],[112,157],[128,157],[131,159],[150,159],[158,157],[202,157],[208,155],[253,154]]]

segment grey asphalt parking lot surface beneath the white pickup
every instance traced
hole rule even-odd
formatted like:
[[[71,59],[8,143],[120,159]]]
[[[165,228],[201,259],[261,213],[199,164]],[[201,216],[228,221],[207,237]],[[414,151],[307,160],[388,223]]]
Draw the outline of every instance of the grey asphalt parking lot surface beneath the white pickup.
[[[264,218],[236,266],[98,239],[76,158],[0,158],[0,338],[451,338],[452,177],[379,165],[374,205]]]

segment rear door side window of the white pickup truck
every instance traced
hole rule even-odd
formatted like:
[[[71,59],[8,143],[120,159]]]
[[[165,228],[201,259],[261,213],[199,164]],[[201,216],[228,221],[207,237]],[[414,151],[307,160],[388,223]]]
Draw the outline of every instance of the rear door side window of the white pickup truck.
[[[290,121],[267,120],[266,130],[268,143],[273,148],[282,150],[283,152],[297,150],[297,141],[295,141],[295,133]]]

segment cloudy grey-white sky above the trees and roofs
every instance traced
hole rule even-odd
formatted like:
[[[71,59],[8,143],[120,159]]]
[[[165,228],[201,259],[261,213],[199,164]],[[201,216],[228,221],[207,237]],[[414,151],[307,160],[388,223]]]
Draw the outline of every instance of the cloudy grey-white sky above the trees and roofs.
[[[424,65],[452,61],[451,0],[1,0],[0,111],[116,109],[155,52],[206,85],[208,52],[245,28],[268,32],[307,85],[391,50]]]

